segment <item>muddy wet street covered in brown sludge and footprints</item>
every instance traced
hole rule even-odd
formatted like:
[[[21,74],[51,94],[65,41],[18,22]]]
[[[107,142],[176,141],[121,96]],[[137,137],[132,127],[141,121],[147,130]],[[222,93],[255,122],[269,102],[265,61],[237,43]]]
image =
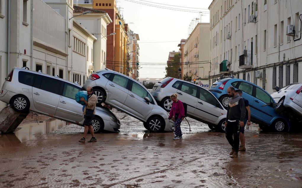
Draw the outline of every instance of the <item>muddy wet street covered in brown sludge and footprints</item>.
[[[231,159],[225,134],[196,120],[172,140],[114,113],[120,132],[96,134],[96,143],[79,143],[84,129],[60,120],[0,135],[0,187],[302,187],[301,133],[249,126],[246,152]]]

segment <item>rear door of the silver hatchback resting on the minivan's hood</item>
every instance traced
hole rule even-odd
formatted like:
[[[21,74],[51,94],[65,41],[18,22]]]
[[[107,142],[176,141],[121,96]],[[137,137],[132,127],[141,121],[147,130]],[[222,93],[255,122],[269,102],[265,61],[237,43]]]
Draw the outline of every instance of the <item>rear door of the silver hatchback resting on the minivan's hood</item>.
[[[128,83],[130,79],[119,74],[112,74],[106,84],[108,95],[106,101],[117,107],[122,107],[128,96]]]

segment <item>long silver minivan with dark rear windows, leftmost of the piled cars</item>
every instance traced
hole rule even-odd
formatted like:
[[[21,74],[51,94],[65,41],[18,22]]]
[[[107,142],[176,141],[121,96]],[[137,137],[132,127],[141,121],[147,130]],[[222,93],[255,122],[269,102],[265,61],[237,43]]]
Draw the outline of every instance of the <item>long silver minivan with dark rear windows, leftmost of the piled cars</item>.
[[[82,105],[75,100],[81,90],[72,82],[14,67],[2,85],[0,100],[11,104],[17,112],[30,110],[83,125]],[[110,110],[96,107],[92,125],[95,133],[118,132],[120,121]]]

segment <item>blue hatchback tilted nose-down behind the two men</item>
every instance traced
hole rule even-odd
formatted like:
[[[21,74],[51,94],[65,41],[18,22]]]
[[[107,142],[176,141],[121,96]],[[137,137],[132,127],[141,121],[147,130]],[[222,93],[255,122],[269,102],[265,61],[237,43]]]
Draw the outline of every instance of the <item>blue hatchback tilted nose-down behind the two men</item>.
[[[249,101],[251,121],[259,124],[262,130],[272,128],[276,132],[291,130],[288,118],[275,112],[275,100],[259,86],[242,79],[227,77],[214,82],[209,91],[220,101],[224,108],[228,107],[227,88],[233,86],[242,90],[242,97]]]

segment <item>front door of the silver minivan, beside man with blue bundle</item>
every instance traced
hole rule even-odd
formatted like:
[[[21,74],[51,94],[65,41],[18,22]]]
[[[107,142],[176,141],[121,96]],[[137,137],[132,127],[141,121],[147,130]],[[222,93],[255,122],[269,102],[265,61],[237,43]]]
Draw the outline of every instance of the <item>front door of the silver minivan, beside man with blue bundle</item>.
[[[76,93],[81,88],[69,83],[64,83],[63,92],[59,98],[56,115],[58,118],[68,119],[71,122],[81,122],[84,118],[82,105],[76,102]]]

